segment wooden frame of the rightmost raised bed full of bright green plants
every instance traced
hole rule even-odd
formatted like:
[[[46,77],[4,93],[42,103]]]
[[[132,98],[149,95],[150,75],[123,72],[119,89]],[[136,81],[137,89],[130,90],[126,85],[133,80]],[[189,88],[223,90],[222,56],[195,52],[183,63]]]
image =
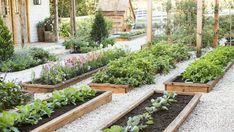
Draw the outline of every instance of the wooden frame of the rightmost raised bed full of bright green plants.
[[[210,92],[213,87],[219,82],[220,79],[223,78],[224,74],[233,66],[234,61],[230,62],[228,66],[225,68],[224,73],[217,77],[215,80],[209,81],[208,83],[185,83],[185,82],[177,82],[181,75],[174,76],[168,81],[164,82],[165,90],[167,91],[178,91],[178,92]]]

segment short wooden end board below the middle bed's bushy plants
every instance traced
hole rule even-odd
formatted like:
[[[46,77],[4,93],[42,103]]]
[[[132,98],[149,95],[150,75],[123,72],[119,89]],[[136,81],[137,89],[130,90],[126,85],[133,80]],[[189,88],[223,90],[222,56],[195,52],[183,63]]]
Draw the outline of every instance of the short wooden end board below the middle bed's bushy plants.
[[[113,93],[128,93],[132,87],[129,85],[115,85],[115,84],[98,84],[98,83],[91,83],[89,86],[96,90],[102,91],[112,91]]]

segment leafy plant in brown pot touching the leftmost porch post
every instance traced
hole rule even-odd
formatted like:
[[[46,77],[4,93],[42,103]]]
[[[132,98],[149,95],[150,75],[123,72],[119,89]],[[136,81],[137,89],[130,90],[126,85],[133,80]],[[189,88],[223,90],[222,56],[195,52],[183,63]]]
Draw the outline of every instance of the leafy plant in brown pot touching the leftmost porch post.
[[[45,42],[55,42],[55,35],[54,35],[54,19],[53,17],[48,17],[44,21],[44,35],[45,35]]]

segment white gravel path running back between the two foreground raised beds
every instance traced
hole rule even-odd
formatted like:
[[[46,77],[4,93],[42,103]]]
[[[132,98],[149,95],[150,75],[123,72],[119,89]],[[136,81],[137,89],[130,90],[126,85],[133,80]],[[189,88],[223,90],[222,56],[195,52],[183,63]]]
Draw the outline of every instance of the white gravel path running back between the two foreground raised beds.
[[[172,76],[179,74],[190,64],[192,60],[177,64],[177,68],[172,70],[168,75],[156,75],[155,84],[145,85],[140,88],[136,88],[127,94],[114,94],[112,102],[101,106],[100,108],[82,116],[80,119],[68,124],[59,130],[58,132],[94,132],[105,121],[110,120],[115,115],[126,109],[129,105],[133,104],[136,100],[142,98],[147,92],[152,89],[163,90],[163,82]],[[88,83],[91,80],[88,79],[82,84]],[[77,84],[78,86],[80,84]]]

